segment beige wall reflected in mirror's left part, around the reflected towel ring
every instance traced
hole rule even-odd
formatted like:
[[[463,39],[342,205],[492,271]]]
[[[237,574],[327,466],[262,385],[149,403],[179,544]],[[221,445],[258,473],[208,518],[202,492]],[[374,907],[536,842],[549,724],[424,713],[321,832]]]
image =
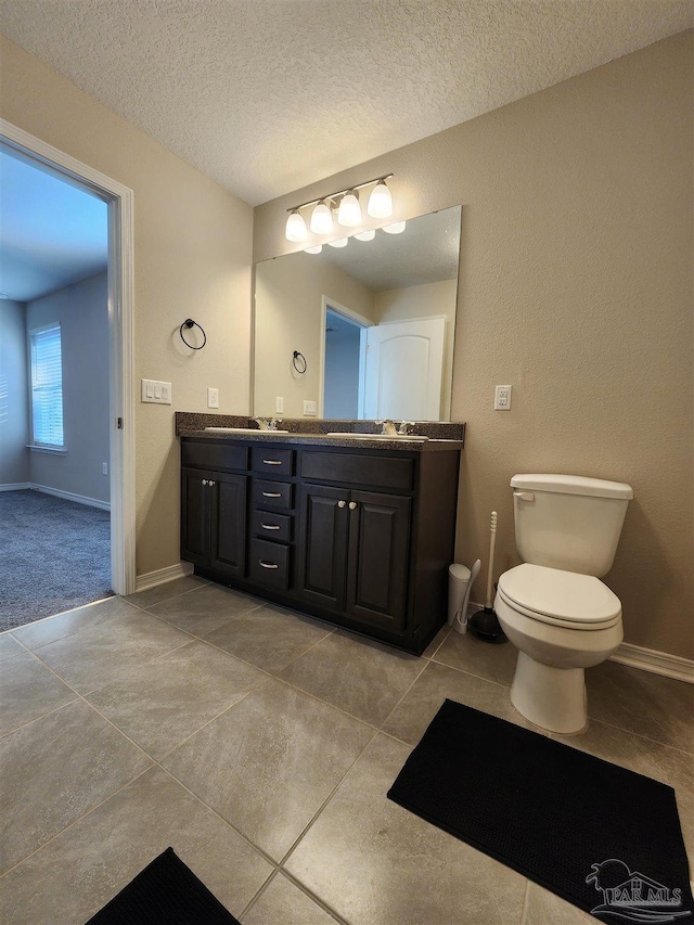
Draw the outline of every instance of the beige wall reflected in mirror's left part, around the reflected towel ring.
[[[255,414],[272,416],[277,396],[284,398],[284,417],[303,417],[304,401],[319,401],[323,296],[372,318],[371,291],[334,264],[296,254],[256,267]],[[306,357],[301,375],[292,365],[294,350]]]

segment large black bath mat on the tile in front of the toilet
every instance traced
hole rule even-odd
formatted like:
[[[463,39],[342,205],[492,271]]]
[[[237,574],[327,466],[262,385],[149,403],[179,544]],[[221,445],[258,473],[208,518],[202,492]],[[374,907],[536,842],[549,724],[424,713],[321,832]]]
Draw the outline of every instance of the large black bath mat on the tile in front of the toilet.
[[[604,922],[694,922],[674,791],[446,701],[388,797]]]

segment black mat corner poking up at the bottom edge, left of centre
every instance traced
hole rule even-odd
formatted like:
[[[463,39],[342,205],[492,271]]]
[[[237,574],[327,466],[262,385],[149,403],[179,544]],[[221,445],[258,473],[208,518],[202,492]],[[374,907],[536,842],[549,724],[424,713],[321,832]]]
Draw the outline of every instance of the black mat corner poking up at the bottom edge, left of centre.
[[[167,848],[87,925],[240,925]]]

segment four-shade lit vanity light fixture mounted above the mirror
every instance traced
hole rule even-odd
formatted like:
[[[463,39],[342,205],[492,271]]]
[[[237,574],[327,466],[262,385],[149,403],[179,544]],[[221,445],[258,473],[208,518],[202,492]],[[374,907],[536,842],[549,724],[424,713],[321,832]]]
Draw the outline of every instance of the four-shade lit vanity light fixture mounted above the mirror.
[[[359,204],[358,190],[364,187],[373,187],[369,196],[369,206],[367,211],[372,218],[389,218],[393,215],[393,196],[390,190],[386,185],[386,180],[389,180],[393,174],[386,174],[383,177],[375,177],[373,180],[367,180],[365,183],[356,183],[347,190],[339,190],[336,193],[331,193],[330,196],[321,196],[320,200],[311,200],[308,203],[301,203],[298,206],[288,208],[288,218],[286,220],[286,229],[284,236],[287,241],[306,241],[308,239],[308,229],[306,221],[301,215],[301,209],[314,206],[310,218],[310,229],[313,234],[332,234],[333,232],[333,213],[337,213],[337,222],[347,228],[357,228],[362,223],[361,206]],[[370,237],[362,237],[362,241],[370,241]],[[344,247],[339,244],[338,247]]]

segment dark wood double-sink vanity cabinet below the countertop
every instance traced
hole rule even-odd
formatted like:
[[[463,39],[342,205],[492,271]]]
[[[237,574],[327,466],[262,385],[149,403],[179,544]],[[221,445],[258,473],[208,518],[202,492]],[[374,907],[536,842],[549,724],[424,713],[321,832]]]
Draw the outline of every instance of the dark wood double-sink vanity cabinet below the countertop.
[[[181,558],[196,573],[423,651],[446,619],[459,449],[181,447]]]

